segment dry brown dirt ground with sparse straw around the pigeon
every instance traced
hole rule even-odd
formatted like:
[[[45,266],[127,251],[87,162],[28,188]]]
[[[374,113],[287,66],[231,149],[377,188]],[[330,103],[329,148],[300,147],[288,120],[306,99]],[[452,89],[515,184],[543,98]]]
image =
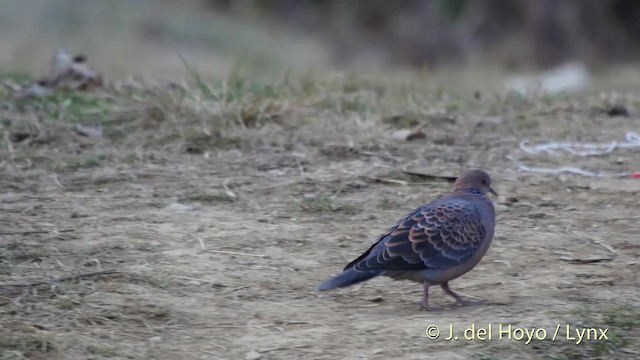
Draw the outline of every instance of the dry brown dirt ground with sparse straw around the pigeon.
[[[384,86],[345,84],[334,86],[339,93],[280,99],[286,111],[253,127],[245,117],[246,126],[221,133],[231,140],[215,144],[189,137],[195,125],[178,121],[182,110],[169,113],[169,104],[158,117],[151,102],[128,122],[107,124],[100,139],[42,118],[27,126],[32,141],[5,127],[0,358],[640,358],[640,180],[517,166],[640,170],[638,148],[600,156],[519,150],[525,139],[623,141],[639,121],[637,102],[623,99],[624,117],[595,111],[601,99],[586,95],[456,108],[442,94],[402,93],[407,108]],[[359,102],[334,102],[354,96]],[[193,119],[255,105],[238,104]],[[10,115],[16,124],[34,118]],[[392,136],[415,126],[424,138]],[[486,304],[460,307],[435,289],[443,309],[420,311],[420,285],[384,278],[315,291],[399,217],[451,189],[446,179],[403,171],[456,176],[475,167],[500,194],[496,236],[451,286]],[[464,339],[467,327],[489,324],[493,338]],[[500,339],[498,326],[509,324],[514,338]],[[427,337],[432,325],[439,339]],[[457,341],[444,339],[450,325]],[[567,325],[607,328],[608,341],[576,344]],[[516,340],[516,328],[541,328],[547,338]]]

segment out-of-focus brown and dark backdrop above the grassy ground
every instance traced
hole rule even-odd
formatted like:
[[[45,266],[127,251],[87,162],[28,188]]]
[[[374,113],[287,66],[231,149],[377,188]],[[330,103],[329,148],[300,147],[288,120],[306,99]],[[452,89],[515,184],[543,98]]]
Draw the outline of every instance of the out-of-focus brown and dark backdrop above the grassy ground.
[[[578,62],[640,57],[634,0],[0,0],[0,67],[42,74],[55,49],[107,77],[176,76],[188,59],[224,74],[238,62],[287,69]]]

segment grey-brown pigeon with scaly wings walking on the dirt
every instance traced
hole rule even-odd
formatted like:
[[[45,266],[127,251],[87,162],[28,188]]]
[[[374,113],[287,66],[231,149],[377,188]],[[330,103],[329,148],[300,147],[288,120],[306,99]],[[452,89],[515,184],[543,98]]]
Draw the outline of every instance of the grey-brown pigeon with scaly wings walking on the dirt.
[[[410,212],[316,289],[326,291],[386,276],[422,283],[421,310],[439,310],[429,304],[429,288],[435,285],[460,305],[484,302],[464,299],[449,288],[449,281],[473,269],[491,245],[495,208],[488,193],[498,196],[486,171],[464,172],[456,178],[452,193]]]

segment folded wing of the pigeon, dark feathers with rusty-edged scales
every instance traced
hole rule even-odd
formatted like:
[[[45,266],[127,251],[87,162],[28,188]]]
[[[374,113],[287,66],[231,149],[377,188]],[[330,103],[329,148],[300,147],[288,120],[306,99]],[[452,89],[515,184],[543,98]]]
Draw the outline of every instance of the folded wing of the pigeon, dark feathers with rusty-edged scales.
[[[448,269],[469,260],[485,234],[480,213],[472,203],[449,199],[416,209],[345,269]]]

